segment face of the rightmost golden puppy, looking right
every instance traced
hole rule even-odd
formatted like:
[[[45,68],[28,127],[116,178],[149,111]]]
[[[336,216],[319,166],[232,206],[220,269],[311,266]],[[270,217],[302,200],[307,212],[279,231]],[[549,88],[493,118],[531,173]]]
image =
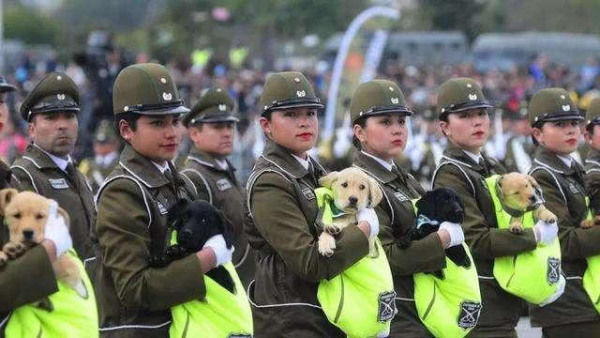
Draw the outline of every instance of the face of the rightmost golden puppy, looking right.
[[[526,211],[541,203],[539,185],[529,175],[514,172],[503,175],[498,181],[498,186],[504,204],[509,208]]]

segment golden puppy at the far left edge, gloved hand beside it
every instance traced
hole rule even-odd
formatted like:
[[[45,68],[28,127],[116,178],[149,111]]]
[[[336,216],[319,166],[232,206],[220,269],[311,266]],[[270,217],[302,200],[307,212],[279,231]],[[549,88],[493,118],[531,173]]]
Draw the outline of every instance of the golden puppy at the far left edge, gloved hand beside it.
[[[56,202],[34,192],[18,192],[16,189],[0,190],[0,214],[4,216],[4,223],[9,231],[9,242],[2,248],[0,264],[5,263],[8,258],[19,256],[44,239],[51,203]],[[69,226],[67,212],[62,208],[58,208],[57,211]],[[66,283],[82,297],[87,296],[79,269],[70,256],[62,254],[57,257],[53,268],[58,280]]]

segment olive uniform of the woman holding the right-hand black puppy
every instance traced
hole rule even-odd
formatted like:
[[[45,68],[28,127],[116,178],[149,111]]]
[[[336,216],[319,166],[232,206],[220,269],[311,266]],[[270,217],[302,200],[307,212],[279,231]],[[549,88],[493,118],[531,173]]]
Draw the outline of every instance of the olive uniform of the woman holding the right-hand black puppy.
[[[375,211],[379,218],[379,239],[386,252],[396,290],[398,314],[392,321],[391,337],[430,337],[415,307],[413,274],[433,272],[446,267],[446,254],[436,233],[411,242],[403,249],[398,246],[402,235],[407,235],[415,224],[412,200],[421,197],[423,188],[403,169],[397,172],[384,168],[362,152],[356,154],[354,166],[377,180],[384,199]]]

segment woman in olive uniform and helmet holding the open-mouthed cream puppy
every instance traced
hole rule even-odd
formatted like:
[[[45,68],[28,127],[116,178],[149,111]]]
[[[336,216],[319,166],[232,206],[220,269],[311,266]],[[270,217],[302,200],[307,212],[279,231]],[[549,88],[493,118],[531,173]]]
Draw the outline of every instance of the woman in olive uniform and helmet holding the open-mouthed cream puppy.
[[[379,230],[373,209],[357,227],[338,236],[333,256],[317,250],[317,204],[313,192],[322,167],[307,155],[318,133],[315,97],[298,72],[267,78],[260,99],[260,125],[267,146],[248,180],[245,223],[255,249],[255,282],[250,285],[257,337],[342,337],[317,302],[319,281],[330,279],[368,253],[369,236]]]

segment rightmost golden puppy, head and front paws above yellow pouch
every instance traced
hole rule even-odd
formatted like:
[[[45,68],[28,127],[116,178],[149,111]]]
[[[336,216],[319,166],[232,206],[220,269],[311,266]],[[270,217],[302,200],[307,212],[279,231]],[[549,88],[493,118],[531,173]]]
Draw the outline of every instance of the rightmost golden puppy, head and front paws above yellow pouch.
[[[502,175],[497,190],[502,207],[511,215],[511,232],[523,231],[523,214],[527,211],[533,211],[536,220],[556,222],[556,215],[544,206],[541,188],[533,177],[517,172]]]

